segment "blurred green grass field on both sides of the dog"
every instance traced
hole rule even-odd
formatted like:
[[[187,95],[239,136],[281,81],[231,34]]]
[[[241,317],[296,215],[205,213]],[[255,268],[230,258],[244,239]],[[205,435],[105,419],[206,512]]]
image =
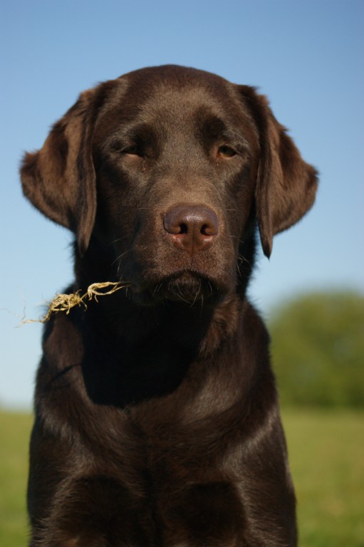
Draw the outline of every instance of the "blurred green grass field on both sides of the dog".
[[[364,547],[364,414],[285,410],[300,547]],[[0,545],[26,546],[31,417],[0,412]]]

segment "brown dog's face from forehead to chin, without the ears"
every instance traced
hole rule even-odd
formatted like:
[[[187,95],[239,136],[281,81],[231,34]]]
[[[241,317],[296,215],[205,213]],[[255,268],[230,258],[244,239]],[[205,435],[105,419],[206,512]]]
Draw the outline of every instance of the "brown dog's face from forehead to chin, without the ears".
[[[187,74],[120,80],[93,137],[96,234],[147,300],[231,290],[254,195],[259,139],[237,91]]]

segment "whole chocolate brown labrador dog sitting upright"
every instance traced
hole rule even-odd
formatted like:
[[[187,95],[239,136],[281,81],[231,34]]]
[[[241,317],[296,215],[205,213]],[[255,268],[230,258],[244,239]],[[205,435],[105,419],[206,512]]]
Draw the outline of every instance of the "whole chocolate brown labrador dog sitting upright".
[[[162,66],[80,95],[21,167],[76,236],[76,281],[128,288],[46,325],[32,547],[296,546],[269,336],[246,300],[256,233],[314,201],[266,98]]]

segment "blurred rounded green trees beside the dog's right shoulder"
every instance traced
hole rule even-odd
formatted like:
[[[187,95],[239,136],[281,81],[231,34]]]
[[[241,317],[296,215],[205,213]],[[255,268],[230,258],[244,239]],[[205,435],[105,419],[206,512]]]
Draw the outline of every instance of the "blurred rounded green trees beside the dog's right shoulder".
[[[282,405],[364,407],[364,296],[309,293],[274,309],[271,354]]]

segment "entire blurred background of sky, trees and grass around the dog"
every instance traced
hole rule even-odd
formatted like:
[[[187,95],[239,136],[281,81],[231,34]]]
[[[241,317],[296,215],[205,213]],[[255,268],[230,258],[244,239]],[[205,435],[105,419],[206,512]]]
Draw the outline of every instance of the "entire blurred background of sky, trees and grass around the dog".
[[[80,91],[175,63],[259,86],[320,172],[249,296],[271,330],[301,546],[364,546],[363,24],[362,0],[1,2],[1,545],[25,545],[41,355],[41,325],[19,325],[73,278],[71,234],[22,197],[19,162]]]

